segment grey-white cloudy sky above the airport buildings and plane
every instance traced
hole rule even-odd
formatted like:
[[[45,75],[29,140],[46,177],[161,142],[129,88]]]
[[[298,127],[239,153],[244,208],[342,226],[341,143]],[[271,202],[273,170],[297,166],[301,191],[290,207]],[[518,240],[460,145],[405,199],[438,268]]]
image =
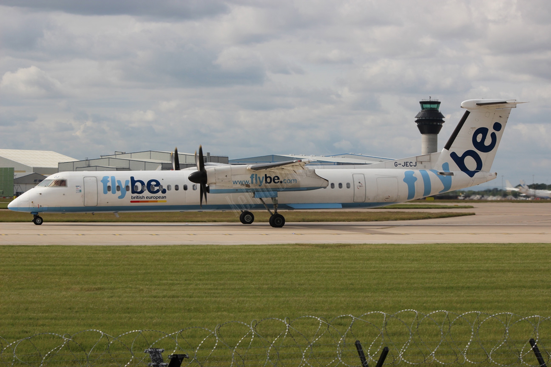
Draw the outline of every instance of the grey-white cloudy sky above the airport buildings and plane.
[[[461,101],[516,98],[483,188],[551,183],[550,19],[548,0],[0,0],[0,147],[399,158],[422,98],[439,149]]]

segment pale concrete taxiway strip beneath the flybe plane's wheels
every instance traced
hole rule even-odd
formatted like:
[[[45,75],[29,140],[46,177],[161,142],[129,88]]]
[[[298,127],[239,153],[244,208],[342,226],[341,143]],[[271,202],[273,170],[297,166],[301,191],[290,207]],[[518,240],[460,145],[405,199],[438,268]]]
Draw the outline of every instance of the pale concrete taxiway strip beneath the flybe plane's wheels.
[[[476,215],[419,221],[287,223],[283,228],[268,223],[0,223],[0,244],[551,243],[551,202],[469,205],[474,209],[444,211]]]

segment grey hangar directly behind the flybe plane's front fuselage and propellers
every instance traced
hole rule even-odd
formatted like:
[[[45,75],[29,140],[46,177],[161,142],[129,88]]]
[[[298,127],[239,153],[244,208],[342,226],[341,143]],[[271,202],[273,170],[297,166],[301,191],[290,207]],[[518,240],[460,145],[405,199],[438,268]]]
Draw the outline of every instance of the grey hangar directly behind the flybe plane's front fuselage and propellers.
[[[100,158],[82,161],[61,162],[58,172],[64,171],[167,171],[172,169],[170,153],[158,150],[143,152],[119,152],[102,155]],[[195,154],[179,153],[180,168],[195,167]],[[227,156],[214,156],[207,153],[205,162],[228,163]]]

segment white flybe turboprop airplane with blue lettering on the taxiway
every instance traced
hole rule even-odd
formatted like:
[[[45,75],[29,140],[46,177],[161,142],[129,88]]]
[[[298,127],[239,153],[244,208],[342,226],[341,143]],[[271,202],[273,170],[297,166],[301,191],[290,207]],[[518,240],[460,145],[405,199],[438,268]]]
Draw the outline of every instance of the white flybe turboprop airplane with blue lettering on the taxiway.
[[[212,166],[204,164],[199,146],[197,168],[180,170],[175,150],[172,171],[60,172],[8,208],[30,212],[35,224],[42,224],[45,212],[199,210],[241,212],[241,222],[250,224],[251,211],[268,210],[269,223],[279,228],[285,224],[282,209],[368,208],[415,200],[495,179],[491,163],[517,103],[524,102],[462,102],[467,111],[444,149],[431,154],[361,166],[307,166],[306,160]]]

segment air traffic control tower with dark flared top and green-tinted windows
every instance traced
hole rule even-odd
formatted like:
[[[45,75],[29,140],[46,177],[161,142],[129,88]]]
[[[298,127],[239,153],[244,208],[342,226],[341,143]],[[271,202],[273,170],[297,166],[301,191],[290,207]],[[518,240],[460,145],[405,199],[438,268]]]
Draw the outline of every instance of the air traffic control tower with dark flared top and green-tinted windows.
[[[419,102],[421,111],[415,116],[417,127],[422,134],[421,154],[429,154],[438,151],[438,133],[444,123],[444,115],[439,111],[440,101],[428,100]]]

